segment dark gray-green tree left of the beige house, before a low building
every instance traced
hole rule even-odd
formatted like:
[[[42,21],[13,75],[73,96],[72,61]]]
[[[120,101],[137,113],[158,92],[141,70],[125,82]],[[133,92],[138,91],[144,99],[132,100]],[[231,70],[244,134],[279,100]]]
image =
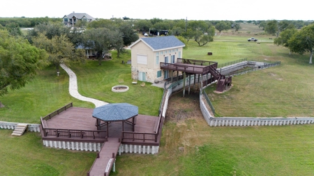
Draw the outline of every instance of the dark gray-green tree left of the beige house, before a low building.
[[[110,38],[108,38],[109,34],[110,30],[107,28],[88,29],[84,32],[84,47],[95,49],[99,65],[105,55],[113,49]]]

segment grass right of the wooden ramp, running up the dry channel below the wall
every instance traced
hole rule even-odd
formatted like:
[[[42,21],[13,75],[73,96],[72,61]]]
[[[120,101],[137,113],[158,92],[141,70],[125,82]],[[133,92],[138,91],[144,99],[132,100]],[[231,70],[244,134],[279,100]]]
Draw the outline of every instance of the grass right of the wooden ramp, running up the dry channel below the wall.
[[[112,175],[313,175],[313,125],[209,127],[179,104],[200,108],[173,95],[158,154],[122,154]]]

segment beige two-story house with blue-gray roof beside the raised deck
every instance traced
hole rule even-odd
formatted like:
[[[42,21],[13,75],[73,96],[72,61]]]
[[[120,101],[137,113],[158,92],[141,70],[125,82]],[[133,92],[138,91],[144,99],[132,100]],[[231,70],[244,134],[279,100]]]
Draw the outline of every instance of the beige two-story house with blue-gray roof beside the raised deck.
[[[129,47],[132,79],[154,83],[169,78],[169,70],[161,70],[160,62],[177,63],[185,46],[173,35],[140,38]]]

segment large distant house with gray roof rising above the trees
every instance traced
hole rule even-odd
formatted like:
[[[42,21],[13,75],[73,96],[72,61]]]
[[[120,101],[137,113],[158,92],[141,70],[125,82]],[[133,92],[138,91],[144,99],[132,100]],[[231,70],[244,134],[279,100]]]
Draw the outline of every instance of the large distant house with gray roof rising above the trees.
[[[64,15],[63,17],[63,23],[68,26],[74,26],[74,24],[77,23],[78,20],[84,21],[84,22],[93,22],[97,20],[94,17],[91,17],[91,15],[88,15],[87,13],[70,13],[69,15]]]

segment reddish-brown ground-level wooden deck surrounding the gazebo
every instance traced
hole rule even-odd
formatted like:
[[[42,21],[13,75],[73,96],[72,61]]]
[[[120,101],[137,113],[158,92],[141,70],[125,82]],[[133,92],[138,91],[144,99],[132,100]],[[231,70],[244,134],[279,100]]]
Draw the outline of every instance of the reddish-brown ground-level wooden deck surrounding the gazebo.
[[[60,129],[60,131],[65,130],[85,130],[85,131],[97,131],[96,118],[93,118],[91,115],[94,109],[87,108],[78,108],[78,107],[70,107],[66,109],[66,111],[62,111],[58,115],[55,115],[53,118],[50,118],[45,121],[47,129]],[[150,115],[137,115],[136,116],[136,125],[135,131],[132,129],[132,125],[124,122],[124,131],[135,132],[135,133],[149,133],[156,134],[156,127],[159,122],[159,117],[150,116]],[[107,125],[101,127],[102,132],[107,133]],[[53,130],[50,130],[53,131]],[[52,132],[51,132],[52,133]],[[69,132],[70,133],[70,132]],[[160,135],[160,134],[158,134]],[[45,136],[42,133],[43,139],[51,140],[51,141],[98,141],[103,142],[106,141],[106,135],[102,135],[104,137],[96,137],[96,138],[81,138],[80,136]],[[122,138],[122,122],[110,122],[109,124],[109,138]],[[127,141],[123,141],[126,143]],[[129,141],[134,143],[134,141]],[[135,141],[136,142],[136,141]],[[154,145],[158,145],[157,141],[137,141],[140,143],[154,143]]]

